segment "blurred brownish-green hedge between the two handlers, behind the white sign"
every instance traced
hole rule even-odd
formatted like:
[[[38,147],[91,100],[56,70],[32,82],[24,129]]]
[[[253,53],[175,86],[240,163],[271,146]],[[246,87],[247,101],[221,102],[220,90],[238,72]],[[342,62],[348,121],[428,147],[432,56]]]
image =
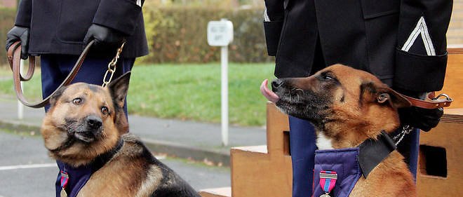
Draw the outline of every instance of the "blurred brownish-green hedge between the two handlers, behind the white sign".
[[[227,18],[234,24],[234,41],[229,46],[231,62],[272,62],[267,55],[262,9],[163,7],[145,5],[145,31],[150,53],[146,63],[217,62],[220,47],[209,46],[206,27],[210,20]]]

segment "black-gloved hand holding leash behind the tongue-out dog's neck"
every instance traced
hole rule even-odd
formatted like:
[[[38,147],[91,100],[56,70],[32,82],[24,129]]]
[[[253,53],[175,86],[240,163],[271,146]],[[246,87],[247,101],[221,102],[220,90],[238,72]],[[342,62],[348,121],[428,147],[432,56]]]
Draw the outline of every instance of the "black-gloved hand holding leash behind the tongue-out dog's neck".
[[[409,97],[418,98],[424,100],[426,93],[415,93],[410,90],[403,90],[401,88],[394,88],[398,93],[407,95]],[[414,128],[420,128],[424,131],[429,131],[431,128],[435,128],[436,125],[441,121],[443,115],[443,109],[424,109],[421,107],[407,107],[398,109],[398,115],[401,119],[402,125],[410,125]]]

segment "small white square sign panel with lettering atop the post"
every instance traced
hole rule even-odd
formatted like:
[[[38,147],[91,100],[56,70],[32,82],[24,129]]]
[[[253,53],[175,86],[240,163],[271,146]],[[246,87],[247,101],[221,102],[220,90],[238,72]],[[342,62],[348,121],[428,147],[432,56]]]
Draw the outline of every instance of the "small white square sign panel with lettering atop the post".
[[[222,19],[208,22],[208,43],[210,46],[228,46],[233,41],[233,23]]]

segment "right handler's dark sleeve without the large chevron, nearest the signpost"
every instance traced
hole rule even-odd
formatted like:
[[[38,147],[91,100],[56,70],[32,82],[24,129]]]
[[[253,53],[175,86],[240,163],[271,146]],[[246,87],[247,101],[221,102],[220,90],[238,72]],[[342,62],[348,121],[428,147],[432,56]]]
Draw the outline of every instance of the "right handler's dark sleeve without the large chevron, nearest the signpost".
[[[275,56],[278,50],[284,15],[283,0],[265,0],[264,31],[269,56]]]

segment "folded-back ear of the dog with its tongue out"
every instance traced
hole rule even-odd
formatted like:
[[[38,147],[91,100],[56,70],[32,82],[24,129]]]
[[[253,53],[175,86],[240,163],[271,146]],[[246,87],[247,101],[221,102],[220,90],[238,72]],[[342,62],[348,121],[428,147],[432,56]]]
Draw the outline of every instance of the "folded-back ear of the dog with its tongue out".
[[[375,102],[380,104],[387,102],[387,104],[396,109],[411,106],[410,101],[383,83],[363,83],[361,85],[361,91],[363,92],[362,94],[368,92],[370,97],[374,97],[372,99],[376,100]],[[365,97],[365,95],[363,96]]]

